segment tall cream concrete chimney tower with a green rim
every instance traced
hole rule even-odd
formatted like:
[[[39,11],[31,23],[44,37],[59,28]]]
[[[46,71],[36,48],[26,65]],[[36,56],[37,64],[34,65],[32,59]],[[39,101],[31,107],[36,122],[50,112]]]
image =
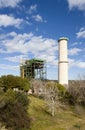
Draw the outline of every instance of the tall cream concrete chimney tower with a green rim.
[[[68,86],[68,57],[67,57],[68,38],[62,37],[58,40],[59,61],[58,61],[58,82]]]

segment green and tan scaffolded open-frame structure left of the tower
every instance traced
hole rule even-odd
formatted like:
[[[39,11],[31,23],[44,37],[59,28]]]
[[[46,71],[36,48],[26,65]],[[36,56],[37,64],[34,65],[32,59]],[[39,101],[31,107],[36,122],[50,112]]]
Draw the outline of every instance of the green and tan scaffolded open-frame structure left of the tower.
[[[46,79],[46,64],[44,60],[25,60],[20,64],[20,75],[22,78]]]

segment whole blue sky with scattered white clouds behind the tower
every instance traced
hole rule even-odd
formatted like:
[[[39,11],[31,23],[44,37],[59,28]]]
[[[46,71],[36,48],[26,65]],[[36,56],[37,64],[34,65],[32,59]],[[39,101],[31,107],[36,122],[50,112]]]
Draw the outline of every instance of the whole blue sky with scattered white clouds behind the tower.
[[[22,60],[46,60],[58,79],[58,39],[68,37],[69,79],[85,74],[85,0],[0,0],[0,76]]]

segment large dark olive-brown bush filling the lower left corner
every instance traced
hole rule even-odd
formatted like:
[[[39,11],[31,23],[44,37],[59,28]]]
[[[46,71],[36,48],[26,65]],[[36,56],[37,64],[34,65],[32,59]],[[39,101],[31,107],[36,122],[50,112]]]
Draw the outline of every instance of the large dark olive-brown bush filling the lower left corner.
[[[24,93],[8,90],[1,97],[0,121],[2,124],[9,130],[29,129],[30,119],[27,113],[29,101],[27,96]]]

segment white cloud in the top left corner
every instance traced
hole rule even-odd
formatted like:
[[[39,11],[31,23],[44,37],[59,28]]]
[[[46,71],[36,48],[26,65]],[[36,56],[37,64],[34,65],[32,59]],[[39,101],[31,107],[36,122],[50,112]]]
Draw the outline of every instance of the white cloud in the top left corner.
[[[16,7],[22,0],[0,0],[0,8],[3,7]]]

